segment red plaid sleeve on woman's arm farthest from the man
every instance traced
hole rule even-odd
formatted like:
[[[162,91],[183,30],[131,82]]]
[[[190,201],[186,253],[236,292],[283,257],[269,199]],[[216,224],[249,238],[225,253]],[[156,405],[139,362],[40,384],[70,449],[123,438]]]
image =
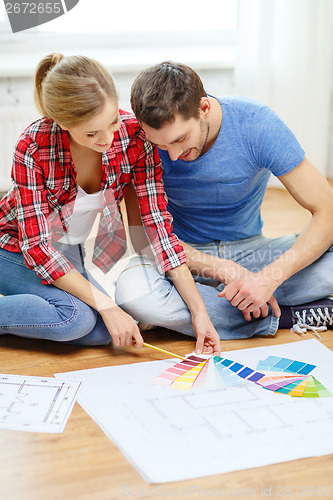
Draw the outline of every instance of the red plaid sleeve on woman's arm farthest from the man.
[[[52,283],[74,266],[51,246],[44,172],[38,146],[29,137],[21,137],[16,146],[12,177],[20,250],[42,282]]]

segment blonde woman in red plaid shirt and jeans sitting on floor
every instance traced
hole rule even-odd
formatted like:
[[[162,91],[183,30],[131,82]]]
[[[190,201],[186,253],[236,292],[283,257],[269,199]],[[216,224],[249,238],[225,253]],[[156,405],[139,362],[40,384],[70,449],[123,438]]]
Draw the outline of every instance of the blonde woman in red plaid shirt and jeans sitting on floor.
[[[82,345],[142,345],[135,321],[85,268],[84,242],[101,212],[93,261],[104,272],[123,255],[120,201],[137,193],[160,270],[192,315],[197,350],[219,337],[172,233],[156,148],[118,109],[112,77],[98,62],[50,54],[38,65],[43,118],[20,136],[13,187],[0,202],[0,331]]]

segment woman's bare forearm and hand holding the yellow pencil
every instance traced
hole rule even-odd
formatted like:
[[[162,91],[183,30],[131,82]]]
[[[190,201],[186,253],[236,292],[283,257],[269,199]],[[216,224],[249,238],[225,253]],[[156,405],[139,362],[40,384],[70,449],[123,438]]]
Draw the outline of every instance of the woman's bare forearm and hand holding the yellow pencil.
[[[115,346],[142,347],[143,339],[131,316],[94,285],[89,283],[76,269],[61,276],[53,285],[68,292],[98,311],[108,329]]]

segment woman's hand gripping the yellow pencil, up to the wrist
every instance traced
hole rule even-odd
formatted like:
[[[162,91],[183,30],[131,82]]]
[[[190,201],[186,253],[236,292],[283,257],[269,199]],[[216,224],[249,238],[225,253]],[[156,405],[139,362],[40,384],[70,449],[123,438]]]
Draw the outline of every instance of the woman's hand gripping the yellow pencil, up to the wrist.
[[[100,314],[115,346],[130,346],[134,340],[135,347],[142,347],[143,338],[139,327],[129,314],[118,306],[103,309]]]

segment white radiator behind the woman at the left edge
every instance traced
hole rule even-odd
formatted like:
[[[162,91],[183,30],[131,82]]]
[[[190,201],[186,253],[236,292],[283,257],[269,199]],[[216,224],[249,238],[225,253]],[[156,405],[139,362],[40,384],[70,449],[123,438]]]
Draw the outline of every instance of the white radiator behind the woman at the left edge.
[[[0,107],[0,191],[11,186],[13,151],[19,135],[37,118],[33,107]]]

